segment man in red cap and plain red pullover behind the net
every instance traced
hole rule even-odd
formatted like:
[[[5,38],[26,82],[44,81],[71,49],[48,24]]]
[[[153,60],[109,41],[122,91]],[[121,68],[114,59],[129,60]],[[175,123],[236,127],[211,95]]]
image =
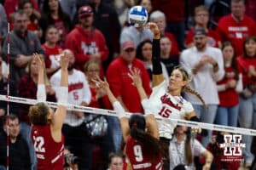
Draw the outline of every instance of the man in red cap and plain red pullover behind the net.
[[[138,69],[143,82],[143,88],[149,95],[151,93],[150,79],[143,61],[136,58],[136,46],[132,41],[121,43],[121,54],[108,66],[107,78],[109,86],[114,96],[123,105],[125,111],[131,113],[143,113],[140,96],[137,88],[132,85],[132,80],[128,76],[131,69]],[[119,150],[122,133],[119,127],[119,120],[113,117],[112,120],[113,141],[115,150]],[[110,124],[110,123],[109,123]],[[117,135],[118,134],[118,135]]]

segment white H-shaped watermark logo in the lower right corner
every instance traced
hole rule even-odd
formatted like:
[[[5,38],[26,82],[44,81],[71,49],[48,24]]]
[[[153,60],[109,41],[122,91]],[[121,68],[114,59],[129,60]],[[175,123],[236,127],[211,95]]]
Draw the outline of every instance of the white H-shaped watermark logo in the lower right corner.
[[[241,143],[241,135],[239,134],[225,134],[224,144],[220,144],[220,148],[224,148],[224,156],[241,156],[241,149],[245,147],[246,144]]]

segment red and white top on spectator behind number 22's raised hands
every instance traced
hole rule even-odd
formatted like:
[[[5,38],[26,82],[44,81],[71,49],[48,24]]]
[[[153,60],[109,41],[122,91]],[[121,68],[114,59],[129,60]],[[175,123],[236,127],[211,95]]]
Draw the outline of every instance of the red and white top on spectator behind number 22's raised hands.
[[[54,48],[49,48],[45,44],[42,45],[45,51],[45,67],[46,68],[57,68],[60,67],[59,61],[61,46],[55,45]]]

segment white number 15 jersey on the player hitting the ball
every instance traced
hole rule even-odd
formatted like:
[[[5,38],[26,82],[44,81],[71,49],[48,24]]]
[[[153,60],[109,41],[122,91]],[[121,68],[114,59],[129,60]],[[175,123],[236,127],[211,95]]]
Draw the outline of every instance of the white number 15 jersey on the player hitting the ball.
[[[172,96],[169,94],[167,87],[168,84],[164,81],[153,88],[153,92],[148,99],[150,112],[154,113],[156,117],[184,119],[183,117],[186,113],[194,111],[193,106],[186,99],[183,99],[182,96]],[[176,127],[175,123],[165,120],[160,121],[160,137],[171,139],[174,127]]]

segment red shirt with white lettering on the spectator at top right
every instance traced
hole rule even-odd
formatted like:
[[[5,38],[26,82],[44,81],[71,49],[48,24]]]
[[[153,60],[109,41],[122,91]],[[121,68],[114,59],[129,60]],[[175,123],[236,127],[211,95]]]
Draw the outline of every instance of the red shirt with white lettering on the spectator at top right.
[[[241,21],[237,21],[229,14],[218,21],[218,32],[222,42],[232,42],[236,56],[241,55],[243,41],[250,35],[256,35],[255,22],[247,15],[244,15]]]

